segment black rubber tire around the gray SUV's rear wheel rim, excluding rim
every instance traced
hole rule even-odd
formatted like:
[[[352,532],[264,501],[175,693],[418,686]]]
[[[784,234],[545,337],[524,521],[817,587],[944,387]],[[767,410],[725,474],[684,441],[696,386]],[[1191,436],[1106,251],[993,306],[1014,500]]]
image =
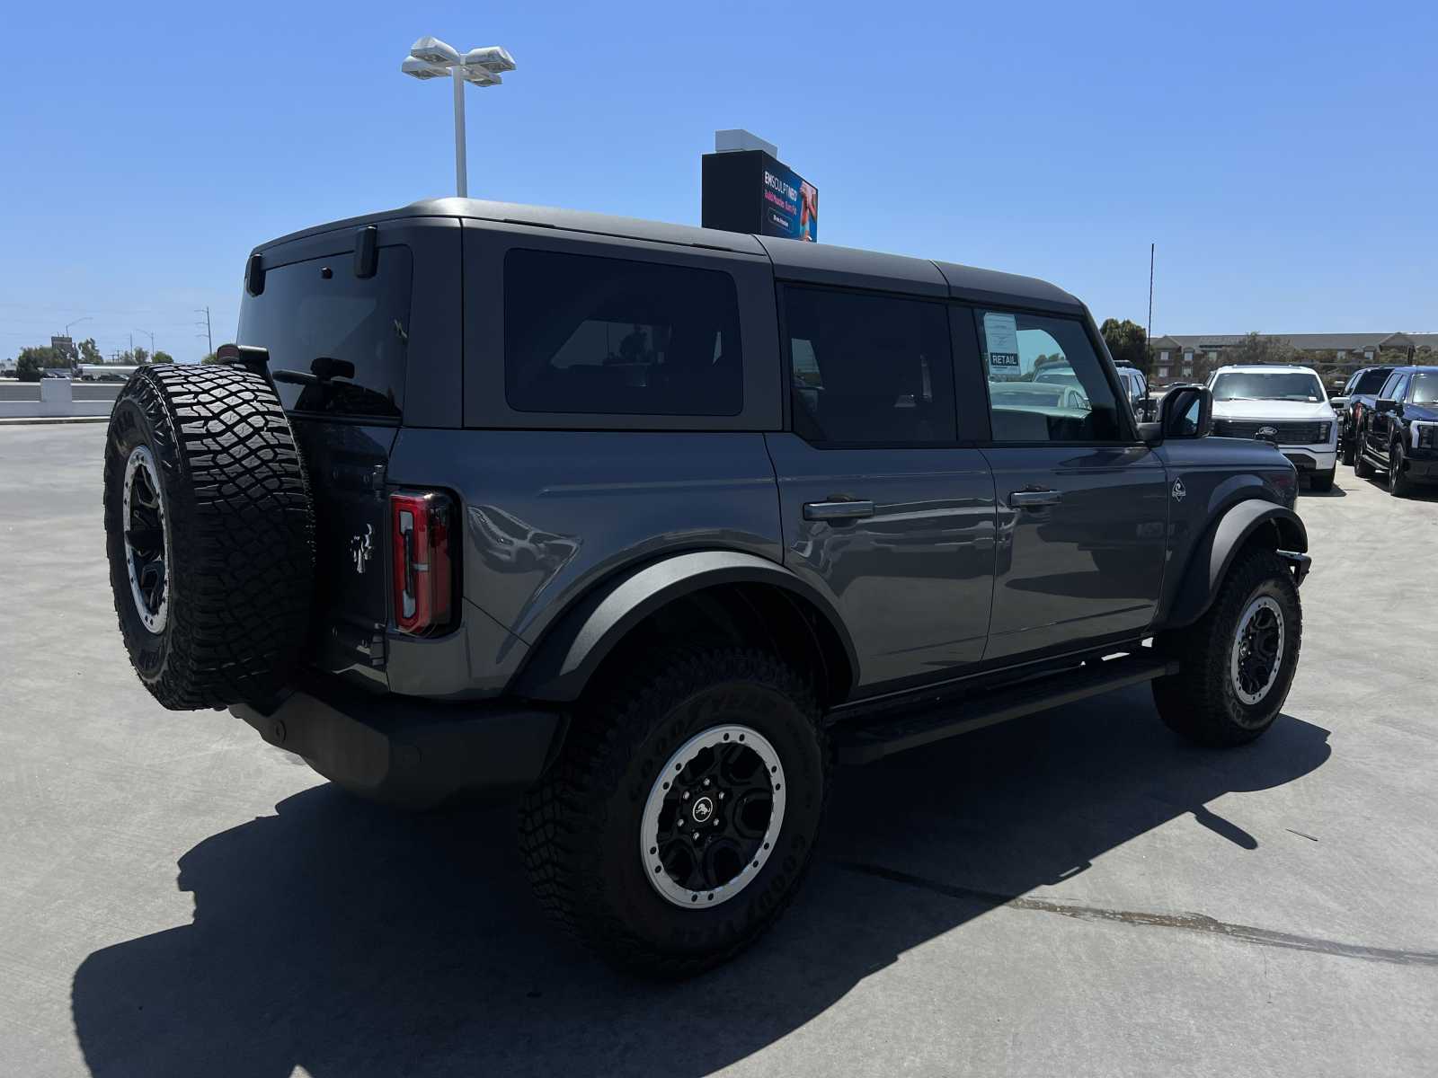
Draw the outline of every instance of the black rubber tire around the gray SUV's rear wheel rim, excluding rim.
[[[519,847],[535,894],[564,929],[641,976],[686,977],[748,947],[788,907],[808,870],[828,796],[828,743],[810,683],[774,655],[713,647],[630,667],[571,724],[525,796]],[[693,908],[646,878],[644,805],[690,737],[742,723],[777,750],[788,783],[774,849],[729,901]],[[666,772],[667,773],[667,772]]]

